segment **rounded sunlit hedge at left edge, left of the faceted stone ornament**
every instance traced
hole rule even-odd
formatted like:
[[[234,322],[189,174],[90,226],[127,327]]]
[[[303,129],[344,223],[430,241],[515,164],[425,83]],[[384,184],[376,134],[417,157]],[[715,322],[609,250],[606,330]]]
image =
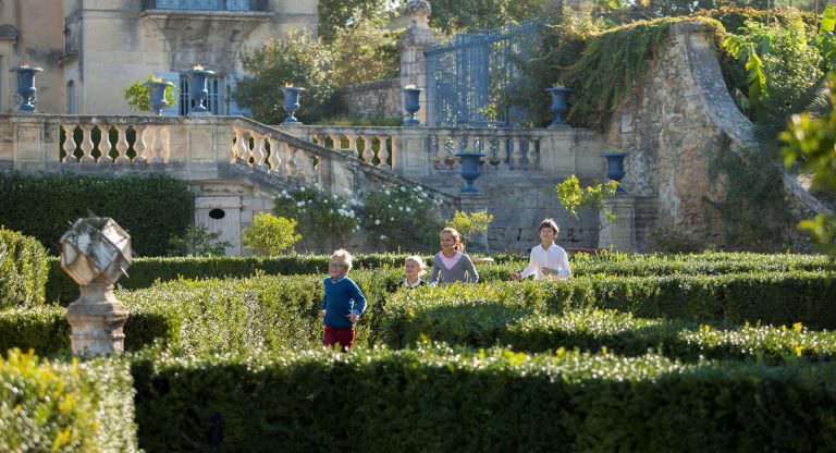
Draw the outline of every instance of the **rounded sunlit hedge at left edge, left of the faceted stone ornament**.
[[[38,241],[0,225],[0,308],[42,304],[47,269]]]

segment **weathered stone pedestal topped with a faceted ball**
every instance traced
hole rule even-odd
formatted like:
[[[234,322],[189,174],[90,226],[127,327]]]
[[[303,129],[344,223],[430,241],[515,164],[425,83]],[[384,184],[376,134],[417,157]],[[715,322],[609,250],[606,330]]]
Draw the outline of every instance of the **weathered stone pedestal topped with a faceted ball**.
[[[131,265],[131,236],[110,218],[78,219],[61,236],[61,268],[81,289],[70,304],[73,354],[109,355],[124,350],[125,307],[113,284]]]

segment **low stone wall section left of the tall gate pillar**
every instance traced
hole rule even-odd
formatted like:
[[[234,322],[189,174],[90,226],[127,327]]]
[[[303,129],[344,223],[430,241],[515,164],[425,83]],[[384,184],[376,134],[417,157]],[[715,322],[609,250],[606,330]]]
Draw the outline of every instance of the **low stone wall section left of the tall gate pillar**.
[[[349,117],[402,118],[401,79],[348,85],[343,93],[343,102]]]

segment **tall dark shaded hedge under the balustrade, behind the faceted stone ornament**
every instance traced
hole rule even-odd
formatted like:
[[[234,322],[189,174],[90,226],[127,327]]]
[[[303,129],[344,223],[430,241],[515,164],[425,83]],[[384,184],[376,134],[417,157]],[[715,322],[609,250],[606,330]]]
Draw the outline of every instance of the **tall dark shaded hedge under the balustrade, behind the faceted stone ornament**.
[[[56,255],[69,222],[88,210],[113,218],[144,256],[165,255],[169,236],[182,235],[194,215],[188,185],[164,175],[0,174],[0,223],[35,236]]]

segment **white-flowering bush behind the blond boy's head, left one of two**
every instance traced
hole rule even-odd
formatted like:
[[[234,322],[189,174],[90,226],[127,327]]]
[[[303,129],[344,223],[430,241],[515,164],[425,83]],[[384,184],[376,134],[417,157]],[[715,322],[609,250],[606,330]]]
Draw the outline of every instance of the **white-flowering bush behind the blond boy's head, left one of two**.
[[[330,252],[344,246],[359,230],[356,209],[360,203],[354,198],[328,195],[318,186],[302,186],[294,193],[282,191],[275,198],[273,212],[296,219],[305,232],[303,246],[310,250]]]

